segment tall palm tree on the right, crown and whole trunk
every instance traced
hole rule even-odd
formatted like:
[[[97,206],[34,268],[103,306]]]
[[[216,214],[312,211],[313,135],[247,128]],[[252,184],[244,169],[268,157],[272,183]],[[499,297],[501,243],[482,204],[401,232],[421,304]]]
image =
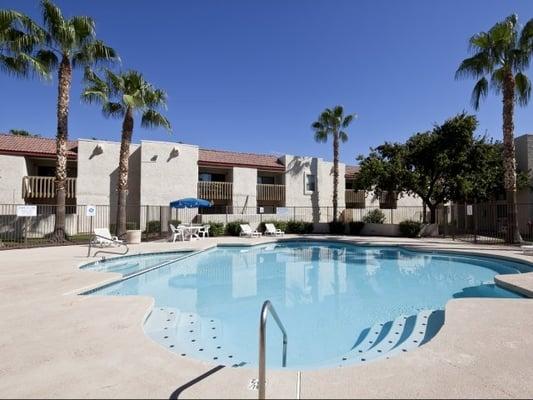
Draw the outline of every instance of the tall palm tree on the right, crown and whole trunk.
[[[519,32],[518,17],[511,15],[489,31],[470,38],[472,57],[462,61],[456,78],[478,79],[472,92],[472,105],[477,110],[489,86],[503,95],[503,168],[509,209],[507,240],[521,242],[516,206],[516,161],[514,146],[514,105],[525,106],[531,95],[531,82],[524,74],[529,66],[533,43],[533,19]],[[490,83],[489,83],[490,79]]]

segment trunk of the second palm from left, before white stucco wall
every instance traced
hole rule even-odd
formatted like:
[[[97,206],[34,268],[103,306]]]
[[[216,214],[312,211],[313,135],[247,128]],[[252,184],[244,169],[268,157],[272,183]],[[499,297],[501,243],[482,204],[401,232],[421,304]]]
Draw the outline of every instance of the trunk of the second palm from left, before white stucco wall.
[[[120,141],[120,159],[118,164],[118,204],[117,231],[120,238],[126,234],[126,203],[128,197],[128,161],[130,157],[131,136],[133,135],[133,112],[130,107],[126,110],[122,123],[122,138]]]

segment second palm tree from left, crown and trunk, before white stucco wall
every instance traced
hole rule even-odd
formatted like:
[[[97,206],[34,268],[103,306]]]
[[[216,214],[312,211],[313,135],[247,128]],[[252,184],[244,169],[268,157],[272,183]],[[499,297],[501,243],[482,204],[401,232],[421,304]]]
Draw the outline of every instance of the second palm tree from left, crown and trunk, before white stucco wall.
[[[128,195],[128,159],[133,135],[135,113],[141,115],[141,126],[155,128],[162,126],[171,131],[170,122],[158,110],[166,108],[167,95],[144,80],[141,73],[127,71],[115,74],[109,69],[103,78],[90,69],[85,71],[86,86],[82,100],[102,105],[102,113],[107,117],[122,118],[120,141],[119,175],[117,182],[117,236],[126,233],[126,201]]]

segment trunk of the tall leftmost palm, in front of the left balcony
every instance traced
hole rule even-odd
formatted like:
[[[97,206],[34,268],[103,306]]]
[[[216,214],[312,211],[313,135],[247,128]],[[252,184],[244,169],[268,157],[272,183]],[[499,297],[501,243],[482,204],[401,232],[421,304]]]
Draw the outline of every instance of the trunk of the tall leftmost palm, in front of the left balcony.
[[[55,195],[56,218],[53,239],[65,240],[65,185],[67,179],[68,107],[72,66],[64,56],[58,71]]]

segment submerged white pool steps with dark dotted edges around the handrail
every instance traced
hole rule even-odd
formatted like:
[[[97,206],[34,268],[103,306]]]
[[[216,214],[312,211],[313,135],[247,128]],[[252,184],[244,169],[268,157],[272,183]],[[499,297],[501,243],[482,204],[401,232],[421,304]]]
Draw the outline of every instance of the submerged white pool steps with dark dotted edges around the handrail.
[[[374,324],[358,335],[347,353],[321,362],[321,365],[364,364],[412,351],[435,336],[443,322],[442,310],[421,310],[418,314]],[[154,307],[144,326],[150,338],[182,357],[194,354],[196,358],[215,364],[244,365],[238,355],[227,354],[220,345],[224,334],[222,329],[220,321],[215,318],[204,318],[170,307]]]

